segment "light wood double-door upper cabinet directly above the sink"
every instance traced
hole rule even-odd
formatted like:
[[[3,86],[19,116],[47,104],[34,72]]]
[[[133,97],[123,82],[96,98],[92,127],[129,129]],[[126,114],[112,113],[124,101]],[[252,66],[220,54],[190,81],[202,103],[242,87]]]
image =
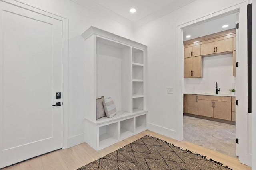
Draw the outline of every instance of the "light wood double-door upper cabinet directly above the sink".
[[[201,45],[201,54],[209,55],[233,51],[233,38],[222,39]]]

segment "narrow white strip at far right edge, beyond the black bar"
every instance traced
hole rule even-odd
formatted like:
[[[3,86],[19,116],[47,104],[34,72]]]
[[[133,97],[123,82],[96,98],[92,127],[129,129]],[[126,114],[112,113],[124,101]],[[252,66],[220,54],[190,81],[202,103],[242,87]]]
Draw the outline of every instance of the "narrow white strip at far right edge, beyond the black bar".
[[[256,0],[252,0],[252,47],[256,47]],[[256,170],[256,48],[252,56],[252,170]]]

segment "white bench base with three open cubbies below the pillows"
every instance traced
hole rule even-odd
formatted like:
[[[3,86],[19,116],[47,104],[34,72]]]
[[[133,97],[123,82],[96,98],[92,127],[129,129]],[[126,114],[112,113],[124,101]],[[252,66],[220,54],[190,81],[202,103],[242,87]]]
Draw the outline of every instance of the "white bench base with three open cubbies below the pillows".
[[[100,150],[147,129],[145,110],[134,113],[119,111],[114,117],[102,117],[95,122],[86,119],[86,143]]]

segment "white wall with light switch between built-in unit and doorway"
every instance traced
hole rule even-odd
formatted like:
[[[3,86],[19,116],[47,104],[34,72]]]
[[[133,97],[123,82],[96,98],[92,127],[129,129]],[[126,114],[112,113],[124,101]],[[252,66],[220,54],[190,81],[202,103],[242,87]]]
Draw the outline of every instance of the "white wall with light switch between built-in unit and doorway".
[[[151,130],[174,139],[178,136],[176,99],[181,94],[176,94],[176,72],[182,68],[176,65],[176,27],[241,2],[244,0],[196,0],[135,30],[135,41],[148,45],[146,100]],[[174,93],[167,94],[167,87],[173,87]]]

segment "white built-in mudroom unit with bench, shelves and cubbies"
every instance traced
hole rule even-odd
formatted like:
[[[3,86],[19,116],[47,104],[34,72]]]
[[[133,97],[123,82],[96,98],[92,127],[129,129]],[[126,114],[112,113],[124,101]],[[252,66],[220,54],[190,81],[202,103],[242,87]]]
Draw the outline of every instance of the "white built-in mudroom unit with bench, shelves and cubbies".
[[[146,45],[90,27],[85,39],[86,142],[95,150],[146,130]],[[96,120],[96,98],[111,97],[117,114]]]

